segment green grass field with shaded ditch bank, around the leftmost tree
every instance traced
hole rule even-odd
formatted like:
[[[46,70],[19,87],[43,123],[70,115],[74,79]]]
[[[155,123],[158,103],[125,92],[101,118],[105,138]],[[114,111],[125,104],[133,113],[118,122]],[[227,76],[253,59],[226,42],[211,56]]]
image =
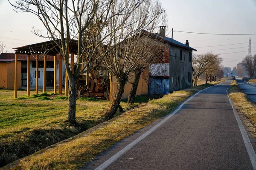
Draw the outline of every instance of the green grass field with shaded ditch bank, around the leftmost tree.
[[[52,92],[40,93],[32,91],[26,96],[26,91],[18,91],[14,99],[14,91],[0,90],[0,167],[103,122],[110,105],[105,100],[78,99],[77,124],[70,126],[64,123],[67,99]],[[138,96],[133,107],[142,102],[148,102],[148,97]],[[130,109],[125,101],[121,105],[125,111]]]

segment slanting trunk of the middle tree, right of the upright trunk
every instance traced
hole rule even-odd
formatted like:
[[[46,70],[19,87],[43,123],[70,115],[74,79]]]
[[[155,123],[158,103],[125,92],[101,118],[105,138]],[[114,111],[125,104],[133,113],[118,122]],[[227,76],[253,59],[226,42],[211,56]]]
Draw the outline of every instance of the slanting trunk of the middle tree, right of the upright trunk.
[[[122,95],[124,94],[125,84],[127,82],[127,78],[122,81],[118,81],[116,95],[113,99],[113,104],[110,109],[104,114],[105,119],[111,119],[119,108],[120,101],[122,99]]]

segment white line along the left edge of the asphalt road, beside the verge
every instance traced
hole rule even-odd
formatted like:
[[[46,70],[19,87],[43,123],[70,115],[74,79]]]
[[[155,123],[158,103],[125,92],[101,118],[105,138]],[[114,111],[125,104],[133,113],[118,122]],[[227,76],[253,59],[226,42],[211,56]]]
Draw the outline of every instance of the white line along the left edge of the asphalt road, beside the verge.
[[[222,82],[221,82],[222,83]],[[221,84],[219,83],[219,84]],[[213,86],[210,86],[213,87]],[[208,87],[208,88],[210,88]],[[118,153],[116,153],[114,156],[112,156],[110,159],[108,159],[107,161],[105,161],[103,164],[101,164],[99,167],[97,167],[95,170],[104,170],[106,167],[108,167],[109,165],[111,165],[114,161],[116,161],[119,157],[121,157],[123,154],[125,154],[128,150],[130,150],[132,147],[134,147],[137,143],[139,143],[141,140],[143,140],[145,137],[147,137],[150,133],[154,132],[154,130],[156,130],[158,127],[160,127],[161,125],[163,125],[164,122],[166,122],[168,119],[170,119],[173,115],[175,115],[175,113],[177,113],[182,107],[183,105],[186,104],[186,102],[188,102],[190,99],[192,99],[195,95],[201,93],[202,91],[206,90],[207,88],[198,91],[196,94],[194,94],[193,96],[191,96],[189,99],[187,99],[185,102],[183,102],[180,107],[178,107],[174,112],[172,112],[169,116],[167,116],[165,119],[163,119],[161,122],[159,122],[157,125],[155,125],[154,127],[152,127],[150,130],[148,130],[146,133],[144,133],[143,135],[141,135],[140,137],[138,137],[137,139],[135,139],[133,142],[131,142],[130,144],[128,144],[125,148],[123,148],[122,150],[120,150]]]

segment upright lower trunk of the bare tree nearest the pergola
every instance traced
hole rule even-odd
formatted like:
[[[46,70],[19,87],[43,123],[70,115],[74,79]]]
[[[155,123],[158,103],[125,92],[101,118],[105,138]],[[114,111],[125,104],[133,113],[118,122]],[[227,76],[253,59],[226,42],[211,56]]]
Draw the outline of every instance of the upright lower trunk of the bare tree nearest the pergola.
[[[67,121],[70,122],[70,124],[76,123],[76,88],[77,88],[77,81],[75,78],[71,78],[69,81],[68,112],[67,112]]]

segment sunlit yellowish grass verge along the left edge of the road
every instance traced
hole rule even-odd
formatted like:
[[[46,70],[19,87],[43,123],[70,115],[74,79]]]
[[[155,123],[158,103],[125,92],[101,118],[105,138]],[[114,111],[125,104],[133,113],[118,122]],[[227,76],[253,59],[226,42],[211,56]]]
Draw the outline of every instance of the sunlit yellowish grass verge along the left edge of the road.
[[[71,142],[65,142],[46,150],[44,153],[22,159],[15,168],[80,169],[116,142],[171,112],[192,94],[218,83],[212,82],[212,84],[176,91],[160,99],[152,99],[139,108],[117,116],[111,124],[96,130],[89,136],[80,136]]]

